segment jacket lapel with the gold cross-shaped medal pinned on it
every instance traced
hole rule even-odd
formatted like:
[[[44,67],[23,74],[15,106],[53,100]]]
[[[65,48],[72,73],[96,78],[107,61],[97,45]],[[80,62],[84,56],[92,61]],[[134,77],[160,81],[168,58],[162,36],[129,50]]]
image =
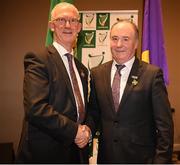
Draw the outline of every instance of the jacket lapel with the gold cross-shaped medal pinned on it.
[[[127,83],[126,83],[126,87],[121,99],[121,103],[120,103],[120,107],[119,110],[121,111],[121,109],[123,108],[123,105],[126,103],[128,96],[131,94],[131,92],[133,91],[133,88],[138,85],[137,82],[140,78],[142,72],[142,67],[141,67],[141,63],[140,61],[135,58],[134,64],[132,66],[132,69],[130,71]]]

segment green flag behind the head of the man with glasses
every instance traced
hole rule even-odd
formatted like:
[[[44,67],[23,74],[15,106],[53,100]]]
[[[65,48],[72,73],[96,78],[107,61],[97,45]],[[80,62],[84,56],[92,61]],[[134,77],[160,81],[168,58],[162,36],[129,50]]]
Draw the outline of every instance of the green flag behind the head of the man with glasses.
[[[51,18],[51,10],[54,8],[54,6],[60,2],[68,2],[68,3],[73,3],[73,0],[50,0],[50,10],[49,10],[49,20]],[[53,33],[52,31],[48,28],[47,30],[47,35],[46,35],[46,46],[52,44],[53,42]]]

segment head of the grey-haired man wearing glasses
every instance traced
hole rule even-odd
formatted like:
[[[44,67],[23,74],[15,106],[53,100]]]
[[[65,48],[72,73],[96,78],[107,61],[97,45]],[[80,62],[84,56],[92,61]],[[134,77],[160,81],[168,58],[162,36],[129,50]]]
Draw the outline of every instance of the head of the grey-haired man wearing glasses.
[[[54,41],[71,52],[81,30],[81,23],[77,9],[71,4],[63,4],[53,9],[49,27],[54,32]]]

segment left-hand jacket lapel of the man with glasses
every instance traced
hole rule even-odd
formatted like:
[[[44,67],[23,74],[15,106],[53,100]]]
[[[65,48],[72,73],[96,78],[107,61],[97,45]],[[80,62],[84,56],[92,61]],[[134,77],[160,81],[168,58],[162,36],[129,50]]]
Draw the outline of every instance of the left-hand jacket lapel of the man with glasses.
[[[75,98],[74,98],[74,94],[73,94],[73,89],[72,89],[72,86],[71,86],[71,82],[70,82],[70,79],[69,79],[69,76],[68,76],[68,73],[67,73],[67,70],[65,68],[65,65],[58,53],[58,51],[55,49],[54,46],[49,46],[48,47],[48,51],[49,53],[52,55],[53,59],[54,59],[54,63],[56,63],[57,65],[57,70],[58,70],[58,74],[61,73],[62,74],[62,77],[63,77],[63,81],[65,81],[65,84],[68,88],[68,91],[70,93],[70,97],[72,99],[72,102],[74,104],[74,106],[76,106],[76,102],[75,102]]]

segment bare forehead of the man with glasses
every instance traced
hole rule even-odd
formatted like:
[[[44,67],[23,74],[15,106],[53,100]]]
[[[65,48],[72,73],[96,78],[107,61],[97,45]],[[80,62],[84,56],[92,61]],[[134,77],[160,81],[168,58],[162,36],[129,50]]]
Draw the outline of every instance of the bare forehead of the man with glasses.
[[[59,17],[73,17],[79,19],[78,10],[71,6],[56,6],[51,12],[51,20],[57,19]]]

